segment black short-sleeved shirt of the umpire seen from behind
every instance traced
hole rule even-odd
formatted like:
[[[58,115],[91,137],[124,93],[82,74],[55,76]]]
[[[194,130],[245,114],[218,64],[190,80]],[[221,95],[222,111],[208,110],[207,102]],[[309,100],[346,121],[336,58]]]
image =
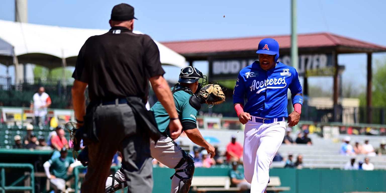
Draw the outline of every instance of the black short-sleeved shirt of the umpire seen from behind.
[[[79,51],[73,73],[88,83],[91,101],[137,96],[147,100],[147,79],[165,72],[156,43],[126,27],[89,37]]]

